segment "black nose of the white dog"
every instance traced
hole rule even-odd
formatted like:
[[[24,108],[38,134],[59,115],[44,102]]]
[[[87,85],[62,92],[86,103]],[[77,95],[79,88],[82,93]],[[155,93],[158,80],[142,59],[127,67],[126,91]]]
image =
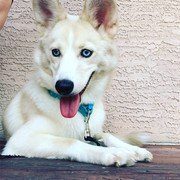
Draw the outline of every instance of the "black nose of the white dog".
[[[57,81],[55,88],[60,95],[69,95],[74,89],[74,83],[66,79],[59,80]]]

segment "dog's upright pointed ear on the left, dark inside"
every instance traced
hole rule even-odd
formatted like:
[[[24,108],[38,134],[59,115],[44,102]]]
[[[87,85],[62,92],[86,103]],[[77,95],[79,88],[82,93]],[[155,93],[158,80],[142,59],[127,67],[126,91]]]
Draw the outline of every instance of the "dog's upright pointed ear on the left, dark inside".
[[[33,0],[37,23],[43,27],[66,18],[66,12],[58,0]]]

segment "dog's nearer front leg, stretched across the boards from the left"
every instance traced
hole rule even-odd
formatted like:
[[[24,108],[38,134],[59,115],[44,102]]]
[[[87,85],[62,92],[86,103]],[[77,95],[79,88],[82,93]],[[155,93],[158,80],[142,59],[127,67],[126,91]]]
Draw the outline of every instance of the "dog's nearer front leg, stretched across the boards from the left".
[[[56,125],[37,117],[23,125],[8,141],[2,155],[71,159],[80,162],[133,165],[129,152],[114,147],[97,147],[76,139],[57,136]]]

